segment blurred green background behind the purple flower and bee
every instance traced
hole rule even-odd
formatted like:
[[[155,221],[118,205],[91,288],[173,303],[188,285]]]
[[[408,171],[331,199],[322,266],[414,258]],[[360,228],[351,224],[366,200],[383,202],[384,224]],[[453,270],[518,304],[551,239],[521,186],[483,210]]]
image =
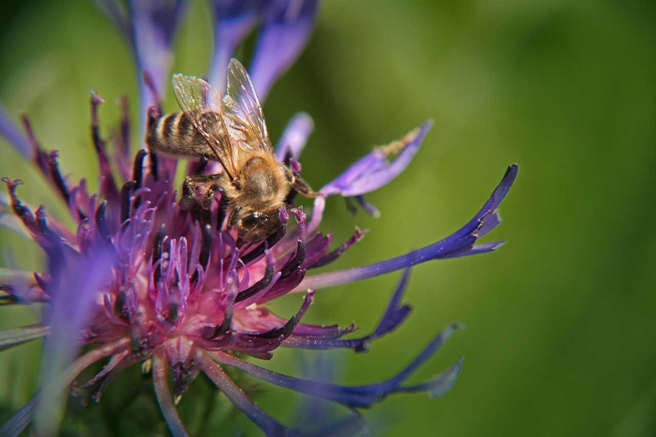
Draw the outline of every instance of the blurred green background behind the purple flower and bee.
[[[89,89],[136,107],[134,62],[91,2],[4,1],[0,101],[29,114],[72,178],[95,183]],[[310,44],[274,86],[264,111],[274,142],[298,110],[316,130],[302,156],[319,187],[425,119],[434,127],[407,170],[367,196],[382,217],[353,216],[331,199],[322,230],[336,241],[354,226],[361,243],[326,268],[387,259],[457,230],[478,211],[510,163],[520,175],[485,241],[499,251],[413,268],[415,307],[367,354],[330,352],[343,383],[389,377],[443,326],[467,325],[413,381],[465,356],[459,381],[436,400],[396,395],[365,411],[373,435],[653,436],[656,434],[656,3],[628,0],[330,0]],[[207,6],[192,2],[173,70],[204,75],[211,51]],[[247,52],[247,51],[246,51]],[[175,110],[171,94],[166,102]],[[137,114],[133,114],[136,122]],[[138,141],[135,134],[134,140]],[[0,142],[0,176],[22,178],[20,196],[63,217],[52,188]],[[3,265],[35,270],[31,243],[3,231]],[[399,273],[319,291],[306,321],[365,333]],[[293,314],[298,296],[276,304]],[[38,309],[0,308],[3,328]],[[313,354],[277,350],[271,369],[298,375]],[[39,344],[0,354],[0,418],[33,394]],[[192,434],[258,432],[196,381],[180,403]],[[250,386],[259,404],[291,423],[297,397]],[[100,405],[69,401],[63,434],[167,435],[148,379],[124,371]],[[126,434],[127,433],[127,434]]]

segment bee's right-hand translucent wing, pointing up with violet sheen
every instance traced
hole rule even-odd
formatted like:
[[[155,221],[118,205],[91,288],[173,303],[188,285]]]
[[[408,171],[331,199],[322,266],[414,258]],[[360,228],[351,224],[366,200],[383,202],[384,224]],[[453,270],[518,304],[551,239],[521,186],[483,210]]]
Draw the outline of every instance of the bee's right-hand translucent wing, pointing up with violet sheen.
[[[228,64],[228,92],[223,97],[228,133],[233,144],[246,151],[274,153],[262,105],[246,69],[232,58]]]

